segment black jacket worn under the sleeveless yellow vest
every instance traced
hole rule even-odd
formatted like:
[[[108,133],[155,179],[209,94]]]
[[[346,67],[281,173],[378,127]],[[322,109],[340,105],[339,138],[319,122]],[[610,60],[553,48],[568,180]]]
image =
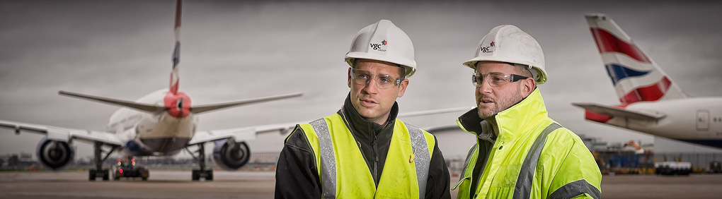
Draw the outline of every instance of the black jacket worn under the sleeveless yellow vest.
[[[350,97],[346,98],[344,107],[339,112],[348,120],[344,120],[352,135],[360,143],[362,154],[371,176],[378,187],[378,180],[386,162],[388,146],[399,105],[394,103],[386,125],[378,125],[361,118],[351,105]],[[435,137],[434,137],[435,138]],[[278,159],[276,169],[276,198],[321,198],[321,182],[318,178],[316,157],[310,148],[303,128],[296,125],[294,131],[286,138]],[[451,198],[449,193],[449,172],[439,150],[438,141],[429,165],[429,177],[426,183],[425,198]]]

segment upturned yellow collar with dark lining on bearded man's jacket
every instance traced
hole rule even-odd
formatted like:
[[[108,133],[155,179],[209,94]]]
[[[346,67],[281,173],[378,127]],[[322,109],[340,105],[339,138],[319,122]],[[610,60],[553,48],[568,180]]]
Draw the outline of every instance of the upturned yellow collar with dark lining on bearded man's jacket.
[[[522,99],[516,105],[509,107],[496,116],[496,125],[499,128],[499,136],[496,138],[492,125],[486,120],[479,118],[479,108],[469,110],[469,112],[461,115],[456,123],[466,132],[474,133],[480,139],[487,141],[513,141],[521,133],[526,132],[529,128],[536,127],[536,123],[540,123],[547,118],[547,107],[544,106],[544,99],[541,98],[539,88],[534,89],[528,97]]]

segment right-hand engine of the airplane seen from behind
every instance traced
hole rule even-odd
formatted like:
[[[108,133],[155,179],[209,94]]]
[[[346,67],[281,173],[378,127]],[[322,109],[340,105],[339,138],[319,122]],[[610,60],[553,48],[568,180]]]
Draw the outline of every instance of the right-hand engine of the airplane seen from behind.
[[[237,170],[248,163],[248,159],[251,159],[251,149],[245,142],[232,144],[225,140],[216,141],[216,146],[213,148],[213,161],[219,167],[226,170]]]

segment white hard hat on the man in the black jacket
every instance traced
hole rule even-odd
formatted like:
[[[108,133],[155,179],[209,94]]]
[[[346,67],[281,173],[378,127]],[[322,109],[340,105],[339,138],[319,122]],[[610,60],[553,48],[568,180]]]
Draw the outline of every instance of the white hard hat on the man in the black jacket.
[[[406,71],[406,78],[416,72],[414,44],[406,33],[386,19],[359,30],[346,53],[346,63],[354,65],[357,58],[387,61],[399,64]]]

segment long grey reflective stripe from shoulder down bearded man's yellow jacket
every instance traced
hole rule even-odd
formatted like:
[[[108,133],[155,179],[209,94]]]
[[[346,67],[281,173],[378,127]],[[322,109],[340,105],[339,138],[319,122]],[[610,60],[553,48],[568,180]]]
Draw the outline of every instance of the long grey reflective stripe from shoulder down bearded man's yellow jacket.
[[[516,187],[514,187],[513,198],[529,198],[529,195],[531,195],[531,182],[534,181],[534,170],[536,170],[536,163],[539,161],[541,149],[544,148],[544,141],[547,141],[549,133],[561,127],[562,126],[557,123],[552,123],[548,125],[547,128],[544,128],[544,131],[541,131],[539,136],[536,136],[534,144],[531,145],[529,151],[526,152],[524,163],[521,164],[519,177],[516,179]]]

